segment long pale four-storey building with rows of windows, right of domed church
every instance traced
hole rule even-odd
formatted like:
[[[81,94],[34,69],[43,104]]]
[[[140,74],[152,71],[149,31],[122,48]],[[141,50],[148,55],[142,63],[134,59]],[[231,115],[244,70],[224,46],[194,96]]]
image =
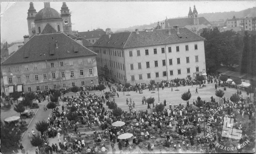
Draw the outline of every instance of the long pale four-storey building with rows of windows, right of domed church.
[[[98,71],[121,83],[195,78],[206,71],[204,38],[175,26],[108,33],[95,44]]]

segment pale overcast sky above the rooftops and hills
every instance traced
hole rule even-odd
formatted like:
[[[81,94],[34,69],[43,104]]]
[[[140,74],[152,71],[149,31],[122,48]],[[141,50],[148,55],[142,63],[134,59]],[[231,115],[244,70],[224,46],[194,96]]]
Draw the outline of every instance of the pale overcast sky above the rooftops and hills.
[[[189,6],[198,14],[241,11],[256,6],[256,2],[67,2],[72,12],[72,30],[126,28],[150,24],[166,18],[187,16]],[[51,2],[51,8],[60,12],[62,2]],[[34,2],[38,11],[43,2]],[[23,39],[28,35],[27,10],[29,2],[1,2],[1,42]],[[220,17],[221,19],[221,17]],[[226,20],[226,19],[224,19]]]

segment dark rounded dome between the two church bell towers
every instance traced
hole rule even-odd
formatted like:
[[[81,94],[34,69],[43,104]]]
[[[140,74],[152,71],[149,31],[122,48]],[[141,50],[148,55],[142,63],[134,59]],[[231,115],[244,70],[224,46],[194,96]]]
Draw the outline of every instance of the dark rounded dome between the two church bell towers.
[[[37,15],[35,16],[35,21],[51,19],[51,18],[60,18],[61,19],[61,16],[55,9],[47,7],[47,8],[41,9],[37,13]]]

